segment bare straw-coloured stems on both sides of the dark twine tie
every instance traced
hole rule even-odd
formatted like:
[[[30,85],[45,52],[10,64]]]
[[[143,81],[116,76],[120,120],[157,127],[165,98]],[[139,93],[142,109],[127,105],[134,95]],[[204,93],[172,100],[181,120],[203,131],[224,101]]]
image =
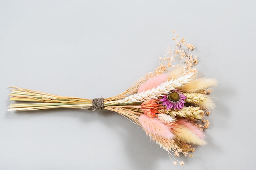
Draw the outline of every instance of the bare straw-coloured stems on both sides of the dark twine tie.
[[[63,97],[18,87],[10,88],[10,100],[25,101],[31,103],[11,104],[8,109],[9,111],[42,110],[50,108],[81,108],[93,110],[91,109],[92,99],[83,99],[78,97]],[[140,110],[140,104],[141,102],[132,104],[119,104],[118,102],[104,99],[103,108],[106,110],[111,110],[120,113],[121,115],[128,117],[131,120],[138,123],[138,116],[143,114],[143,112]]]

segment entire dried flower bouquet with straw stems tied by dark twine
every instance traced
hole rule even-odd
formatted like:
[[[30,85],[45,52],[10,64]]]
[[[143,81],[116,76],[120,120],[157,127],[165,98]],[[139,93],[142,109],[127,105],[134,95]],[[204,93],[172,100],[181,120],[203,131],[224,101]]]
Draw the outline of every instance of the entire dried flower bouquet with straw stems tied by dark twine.
[[[173,31],[175,34],[175,31]],[[205,145],[204,130],[214,103],[209,94],[216,79],[204,78],[194,68],[198,63],[191,54],[195,48],[184,38],[173,37],[173,49],[167,48],[159,57],[159,66],[123,93],[109,98],[83,99],[63,97],[11,87],[10,100],[24,101],[9,106],[9,110],[39,110],[49,108],[81,108],[111,110],[141,126],[146,134],[168,152],[174,164],[175,156],[192,157],[194,146]],[[173,156],[174,155],[174,156]]]

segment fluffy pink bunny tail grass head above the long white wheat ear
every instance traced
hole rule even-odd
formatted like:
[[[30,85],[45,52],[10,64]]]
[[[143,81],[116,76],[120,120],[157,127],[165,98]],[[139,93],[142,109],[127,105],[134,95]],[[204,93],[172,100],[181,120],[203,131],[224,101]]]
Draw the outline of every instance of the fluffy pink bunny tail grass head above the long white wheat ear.
[[[145,83],[141,84],[141,86],[138,89],[138,93],[147,91],[153,87],[157,87],[160,84],[166,82],[167,79],[168,79],[168,74],[166,74],[166,73],[152,77],[152,78],[148,79]]]

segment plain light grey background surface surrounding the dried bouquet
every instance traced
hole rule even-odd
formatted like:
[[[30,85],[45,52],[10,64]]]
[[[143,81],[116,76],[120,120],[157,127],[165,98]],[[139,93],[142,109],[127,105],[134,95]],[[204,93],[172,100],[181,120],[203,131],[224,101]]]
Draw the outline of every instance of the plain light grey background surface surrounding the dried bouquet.
[[[255,1],[0,1],[0,169],[253,169]],[[207,146],[174,166],[117,113],[7,112],[18,86],[110,97],[153,71],[175,29],[196,46],[198,70],[218,79]]]

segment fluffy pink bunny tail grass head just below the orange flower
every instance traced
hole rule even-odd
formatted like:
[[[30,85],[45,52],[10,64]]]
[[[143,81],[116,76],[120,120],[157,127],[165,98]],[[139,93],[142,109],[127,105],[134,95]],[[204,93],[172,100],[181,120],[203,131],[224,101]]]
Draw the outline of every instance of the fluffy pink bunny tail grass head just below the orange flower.
[[[148,135],[159,136],[166,139],[175,137],[170,131],[170,128],[157,118],[151,118],[144,114],[139,117],[139,124],[144,128]]]

